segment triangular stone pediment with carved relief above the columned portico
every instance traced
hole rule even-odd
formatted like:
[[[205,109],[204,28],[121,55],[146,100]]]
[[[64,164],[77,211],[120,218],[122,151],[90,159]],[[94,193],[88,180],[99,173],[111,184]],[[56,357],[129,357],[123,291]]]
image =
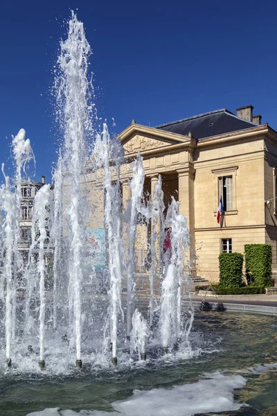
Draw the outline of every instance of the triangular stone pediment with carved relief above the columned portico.
[[[190,137],[139,124],[129,125],[119,137],[127,153],[143,153],[147,150],[191,143]]]

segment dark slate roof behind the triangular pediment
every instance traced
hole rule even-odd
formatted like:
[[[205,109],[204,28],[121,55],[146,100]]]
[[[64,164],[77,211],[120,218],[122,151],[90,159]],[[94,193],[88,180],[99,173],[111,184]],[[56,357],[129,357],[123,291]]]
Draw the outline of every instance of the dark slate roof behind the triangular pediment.
[[[253,128],[256,125],[258,124],[239,119],[231,111],[223,108],[222,110],[188,117],[188,119],[157,125],[156,128],[184,136],[191,132],[195,139],[201,140],[205,137],[224,135],[229,132]]]

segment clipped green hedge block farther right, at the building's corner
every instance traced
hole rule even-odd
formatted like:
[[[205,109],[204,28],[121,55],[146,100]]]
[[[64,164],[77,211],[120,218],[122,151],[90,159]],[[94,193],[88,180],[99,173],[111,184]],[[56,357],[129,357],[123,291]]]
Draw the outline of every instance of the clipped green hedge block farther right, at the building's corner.
[[[247,283],[255,286],[272,285],[272,248],[269,244],[244,245]]]

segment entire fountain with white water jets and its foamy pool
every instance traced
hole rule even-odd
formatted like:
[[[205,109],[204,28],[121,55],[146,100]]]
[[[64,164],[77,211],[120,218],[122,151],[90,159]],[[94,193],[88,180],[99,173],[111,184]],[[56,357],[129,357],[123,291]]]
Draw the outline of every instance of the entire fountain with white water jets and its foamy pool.
[[[258,361],[262,347],[253,348],[251,359],[236,357],[233,349],[228,361],[221,342],[226,333],[223,329],[235,322],[233,315],[195,315],[186,218],[179,214],[174,198],[165,218],[161,177],[152,199],[145,198],[143,158],[139,154],[126,165],[120,141],[110,138],[106,122],[100,126],[88,73],[91,49],[74,13],[68,37],[60,46],[55,92],[63,144],[53,174],[54,189],[44,184],[35,196],[27,261],[18,250],[21,180],[26,176],[26,164],[35,157],[24,130],[13,138],[14,180],[2,166],[0,387],[15,377],[24,392],[24,400],[19,398],[21,406],[30,401],[25,399],[29,394],[33,400],[32,406],[12,414],[32,415],[32,410],[42,410],[33,415],[75,415],[82,406],[91,416],[189,416],[239,410],[242,403],[235,401],[233,390],[244,388],[244,375],[272,372],[276,365],[252,366],[252,357]],[[124,209],[120,177],[127,168],[131,196]],[[105,195],[106,258],[101,270],[91,254],[96,241],[88,219],[95,207],[99,212],[100,202],[91,200],[86,175],[91,177],[94,195]],[[136,297],[138,218],[151,229],[146,304]],[[157,299],[155,279],[161,279]],[[267,318],[273,328],[267,339],[274,331],[272,319]],[[247,318],[242,321],[251,338]],[[263,326],[264,321],[256,318],[256,327]],[[271,359],[274,345],[269,350]],[[218,363],[208,358],[213,354]],[[241,374],[217,371],[222,367],[231,372],[235,359]],[[203,372],[200,362],[206,374],[199,379]],[[184,384],[186,380],[189,383]],[[131,398],[127,384],[134,390]],[[28,385],[35,390],[35,399]],[[3,403],[0,399],[0,413]],[[111,410],[116,413],[109,413]]]

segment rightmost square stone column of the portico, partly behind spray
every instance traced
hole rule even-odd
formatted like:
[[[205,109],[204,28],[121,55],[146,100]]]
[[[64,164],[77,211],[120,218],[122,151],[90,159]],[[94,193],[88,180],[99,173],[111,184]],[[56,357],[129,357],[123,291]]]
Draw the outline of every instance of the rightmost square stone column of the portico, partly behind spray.
[[[188,220],[190,233],[190,262],[192,274],[195,275],[195,202],[194,202],[194,178],[195,168],[188,163],[184,168],[177,169],[179,182],[179,212]]]

